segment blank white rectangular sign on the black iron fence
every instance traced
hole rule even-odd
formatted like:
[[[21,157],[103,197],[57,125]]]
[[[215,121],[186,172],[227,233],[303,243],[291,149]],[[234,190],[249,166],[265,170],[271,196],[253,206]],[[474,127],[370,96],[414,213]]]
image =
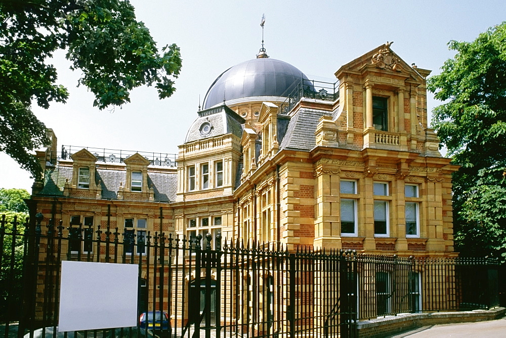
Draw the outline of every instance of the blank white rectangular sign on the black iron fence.
[[[137,325],[139,267],[62,262],[60,332]]]

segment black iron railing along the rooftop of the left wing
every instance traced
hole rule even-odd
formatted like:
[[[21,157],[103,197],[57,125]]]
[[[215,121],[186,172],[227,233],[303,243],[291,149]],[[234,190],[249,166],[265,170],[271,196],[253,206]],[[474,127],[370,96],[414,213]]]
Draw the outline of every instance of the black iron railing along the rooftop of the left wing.
[[[126,158],[129,158],[135,153],[139,153],[140,155],[144,156],[144,158],[146,158],[151,165],[170,166],[170,167],[176,167],[178,165],[177,154],[107,149],[107,148],[78,147],[69,145],[62,145],[61,155],[58,157],[58,160],[70,159],[70,156],[72,154],[78,152],[81,149],[86,149],[89,152],[91,152],[93,155],[95,155],[95,157],[97,157],[97,161],[99,162],[123,163]]]

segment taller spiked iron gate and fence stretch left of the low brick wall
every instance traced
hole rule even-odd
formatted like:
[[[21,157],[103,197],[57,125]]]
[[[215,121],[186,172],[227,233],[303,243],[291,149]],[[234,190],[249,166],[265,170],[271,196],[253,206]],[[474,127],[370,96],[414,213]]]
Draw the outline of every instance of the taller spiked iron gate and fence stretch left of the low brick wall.
[[[51,220],[43,226],[41,221],[39,214],[27,231],[16,221],[0,223],[0,249],[8,254],[0,262],[6,300],[0,324],[6,336],[56,331],[62,261],[138,265],[137,312],[160,311],[170,318],[170,327],[154,328],[159,336],[355,336],[351,252],[288,252],[278,243],[222,245],[220,234],[212,245],[210,234],[180,238],[82,224],[64,227]],[[153,332],[138,324],[76,333],[147,337]]]

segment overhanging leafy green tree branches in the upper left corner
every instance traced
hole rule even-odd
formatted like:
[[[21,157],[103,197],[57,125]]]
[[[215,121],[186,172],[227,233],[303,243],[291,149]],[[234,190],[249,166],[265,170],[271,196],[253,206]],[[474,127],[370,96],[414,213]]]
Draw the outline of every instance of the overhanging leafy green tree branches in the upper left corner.
[[[158,52],[128,0],[0,0],[0,151],[35,178],[41,167],[30,151],[49,139],[30,106],[68,98],[48,63],[59,49],[82,71],[78,85],[95,94],[99,109],[130,102],[130,91],[143,85],[169,97],[181,69],[179,48]]]

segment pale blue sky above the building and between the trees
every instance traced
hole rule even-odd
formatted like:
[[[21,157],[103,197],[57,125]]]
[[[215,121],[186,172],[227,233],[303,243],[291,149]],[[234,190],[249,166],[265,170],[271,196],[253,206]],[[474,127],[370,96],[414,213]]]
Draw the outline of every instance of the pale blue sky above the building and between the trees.
[[[453,57],[449,40],[474,40],[506,20],[504,1],[168,1],[133,0],[137,18],[161,48],[176,43],[183,69],[176,93],[158,100],[153,88],[132,93],[132,103],[112,111],[93,107],[93,95],[76,88],[78,72],[64,53],[55,56],[59,81],[70,91],[67,104],[33,107],[64,145],[177,153],[208,87],[224,70],[252,59],[262,40],[271,58],[288,62],[309,78],[333,79],[343,64],[394,41],[408,64],[439,73]],[[437,101],[429,95],[429,110]],[[0,153],[0,188],[31,192],[30,175]]]

